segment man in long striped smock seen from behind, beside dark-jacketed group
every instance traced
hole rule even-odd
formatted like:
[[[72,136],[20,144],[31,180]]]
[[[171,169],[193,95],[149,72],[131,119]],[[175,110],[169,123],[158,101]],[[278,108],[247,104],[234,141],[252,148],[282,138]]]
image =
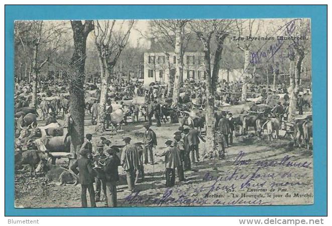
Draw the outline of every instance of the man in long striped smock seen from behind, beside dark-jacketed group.
[[[139,156],[137,148],[130,144],[130,137],[125,137],[126,146],[124,147],[121,155],[121,165],[126,171],[128,190],[134,191],[135,185],[135,172],[138,170]]]

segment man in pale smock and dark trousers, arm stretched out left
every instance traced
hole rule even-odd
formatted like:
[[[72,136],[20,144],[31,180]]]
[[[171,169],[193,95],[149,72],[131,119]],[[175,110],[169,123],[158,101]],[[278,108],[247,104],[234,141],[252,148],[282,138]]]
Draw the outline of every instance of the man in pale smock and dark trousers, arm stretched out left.
[[[165,156],[165,176],[166,176],[166,187],[173,187],[175,184],[175,169],[181,166],[181,159],[179,151],[173,146],[173,141],[168,140],[165,142],[167,148],[161,154],[156,156]]]

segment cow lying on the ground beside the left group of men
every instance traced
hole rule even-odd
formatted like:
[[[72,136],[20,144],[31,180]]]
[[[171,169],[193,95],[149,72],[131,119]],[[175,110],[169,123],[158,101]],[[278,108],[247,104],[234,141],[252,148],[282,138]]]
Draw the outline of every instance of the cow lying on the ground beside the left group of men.
[[[40,161],[36,168],[36,172],[40,171],[43,171],[48,180],[58,182],[57,185],[78,184],[78,177],[73,172],[58,165],[48,164],[45,160]]]

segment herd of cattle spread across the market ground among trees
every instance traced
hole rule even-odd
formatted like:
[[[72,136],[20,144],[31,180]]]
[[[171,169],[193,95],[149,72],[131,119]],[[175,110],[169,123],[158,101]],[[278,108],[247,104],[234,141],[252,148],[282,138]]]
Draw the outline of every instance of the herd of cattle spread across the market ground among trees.
[[[58,123],[51,123],[44,127],[37,123],[38,118],[45,120],[50,110],[55,112],[56,115],[60,115],[61,112],[62,115],[66,114],[69,109],[68,97],[67,93],[44,97],[38,104],[38,110],[28,106],[15,108],[15,163],[17,168],[22,167],[23,164],[29,164],[31,174],[41,168],[49,169],[49,177],[56,178],[62,184],[68,183],[68,181],[77,182],[77,178],[63,167],[54,165],[48,166],[48,168],[44,167],[47,164],[43,161],[49,158],[52,152],[70,152],[70,136],[68,136],[66,128]],[[311,96],[307,98],[306,102],[310,107]],[[85,95],[85,109],[87,112],[90,112],[96,99],[93,92]],[[246,135],[253,128],[257,139],[262,139],[263,132],[266,129],[267,139],[272,141],[279,137],[279,131],[282,129],[285,131],[285,136],[287,134],[292,136],[294,145],[300,146],[303,143],[309,149],[309,141],[312,137],[311,116],[296,119],[293,122],[285,122],[286,115],[278,117],[271,112],[273,106],[282,101],[282,95],[280,95],[280,98],[270,99],[266,103],[260,103],[260,101],[260,99],[248,99],[246,102],[239,104],[229,105],[223,103],[221,106],[217,106],[214,114],[215,124],[217,125],[218,121],[225,117],[228,112],[232,112],[234,126],[237,128],[239,135]],[[171,106],[167,102],[162,103],[160,101],[160,103],[160,118],[165,123],[170,118],[171,123],[178,123],[181,128],[191,123],[200,131],[205,127],[204,107],[195,105],[194,101],[175,106]],[[128,118],[131,118],[134,123],[135,121],[139,122],[140,117],[143,117],[146,122],[149,118],[155,116],[153,114],[153,103],[137,103],[133,100],[125,100],[117,103],[112,102],[112,108],[113,112],[105,119],[107,128],[109,124],[112,125],[112,128],[117,129],[119,126],[122,128],[123,123],[126,124]],[[38,111],[41,112],[41,115]]]

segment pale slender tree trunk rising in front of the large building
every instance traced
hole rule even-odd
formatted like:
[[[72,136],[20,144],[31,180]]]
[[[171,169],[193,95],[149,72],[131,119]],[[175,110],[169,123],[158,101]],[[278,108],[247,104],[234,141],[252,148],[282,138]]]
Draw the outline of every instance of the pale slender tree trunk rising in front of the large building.
[[[173,90],[173,103],[177,103],[180,96],[180,85],[181,85],[181,71],[183,70],[181,64],[181,28],[177,26],[175,31],[175,76],[174,76],[174,90]]]

